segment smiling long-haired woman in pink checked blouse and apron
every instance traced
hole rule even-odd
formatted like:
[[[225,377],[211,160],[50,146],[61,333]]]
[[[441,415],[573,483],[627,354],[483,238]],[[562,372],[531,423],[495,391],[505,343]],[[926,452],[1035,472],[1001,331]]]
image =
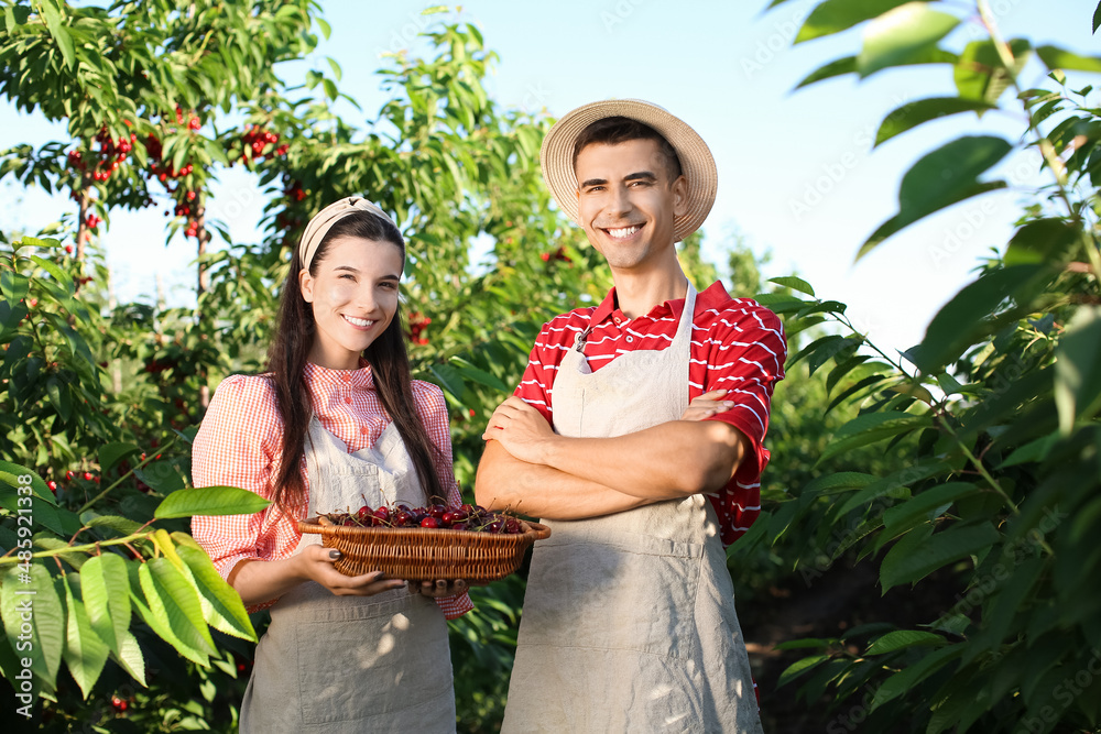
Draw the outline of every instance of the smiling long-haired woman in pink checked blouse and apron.
[[[339,551],[296,526],[363,504],[459,502],[443,393],[410,377],[404,264],[381,209],[355,197],[323,209],[291,261],[268,372],[225,380],[195,437],[195,486],[273,502],[192,524],[250,611],[271,607],[241,732],[455,728],[445,618],[471,609],[466,584],[346,577]]]

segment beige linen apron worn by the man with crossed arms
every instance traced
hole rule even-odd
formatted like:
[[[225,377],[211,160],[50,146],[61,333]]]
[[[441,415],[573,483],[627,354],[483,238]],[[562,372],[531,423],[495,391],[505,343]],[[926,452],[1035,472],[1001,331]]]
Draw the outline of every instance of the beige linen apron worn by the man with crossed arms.
[[[589,369],[578,335],[554,383],[563,436],[621,436],[688,407],[696,291],[673,342]],[[639,461],[646,461],[639,457]],[[542,521],[502,732],[760,734],[718,519],[696,494]]]

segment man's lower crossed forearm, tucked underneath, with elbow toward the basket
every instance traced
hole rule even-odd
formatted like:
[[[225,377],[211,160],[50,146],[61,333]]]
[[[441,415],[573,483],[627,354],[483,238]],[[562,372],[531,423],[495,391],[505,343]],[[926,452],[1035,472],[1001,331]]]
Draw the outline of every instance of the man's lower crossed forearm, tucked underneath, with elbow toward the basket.
[[[654,500],[631,496],[566,472],[527,463],[498,441],[487,441],[475,496],[490,510],[509,508],[528,517],[585,519],[633,510]]]

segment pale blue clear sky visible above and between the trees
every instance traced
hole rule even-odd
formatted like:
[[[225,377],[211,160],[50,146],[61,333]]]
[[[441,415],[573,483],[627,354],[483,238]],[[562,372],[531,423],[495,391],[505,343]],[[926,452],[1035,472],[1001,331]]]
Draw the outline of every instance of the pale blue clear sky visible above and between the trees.
[[[363,108],[347,119],[362,123],[384,101],[373,72],[380,55],[423,47],[416,33],[428,3],[410,0],[323,0],[333,25],[315,58],[285,65],[285,78],[308,68],[344,68],[342,91]],[[797,272],[818,295],[850,305],[858,328],[880,344],[905,349],[924,333],[937,308],[972,276],[991,247],[1004,245],[1020,215],[1022,189],[958,205],[892,238],[859,263],[860,244],[897,209],[898,180],[923,154],[964,133],[1003,134],[1015,141],[1020,118],[989,114],[928,123],[874,152],[881,120],[902,103],[955,95],[948,66],[887,70],[863,81],[841,77],[792,91],[821,64],[859,51],[860,30],[799,44],[791,41],[815,7],[788,0],[765,12],[767,0],[472,0],[459,18],[482,31],[500,62],[489,80],[499,102],[560,116],[611,97],[656,102],[702,135],[719,168],[719,194],[704,226],[705,251],[740,231],[757,252],[772,251],[766,276]],[[1090,34],[1095,0],[990,0],[1004,35],[1101,55]],[[977,37],[962,25],[947,44]],[[1024,80],[1040,81],[1037,63]],[[1084,84],[1101,79],[1071,77]],[[1101,106],[1101,92],[1094,102]],[[0,149],[19,142],[65,140],[64,128],[21,116],[0,101]],[[1011,184],[1038,180],[1035,154],[1006,160],[995,174]],[[212,213],[237,241],[255,241],[262,195],[240,169],[222,172]],[[36,230],[72,207],[37,190],[0,184],[0,229]],[[103,243],[120,298],[152,294],[156,275],[170,299],[185,302],[194,284],[193,243],[165,248],[160,211],[119,213]],[[697,284],[699,285],[699,284]],[[739,294],[752,295],[752,294]]]

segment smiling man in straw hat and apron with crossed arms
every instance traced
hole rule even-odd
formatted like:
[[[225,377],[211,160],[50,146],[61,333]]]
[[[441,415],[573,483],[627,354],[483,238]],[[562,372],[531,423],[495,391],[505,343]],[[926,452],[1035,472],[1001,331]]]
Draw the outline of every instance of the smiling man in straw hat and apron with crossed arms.
[[[553,528],[532,558],[503,731],[757,733],[723,546],[760,513],[782,326],[721,283],[697,294],[680,269],[674,243],[717,180],[683,121],[587,105],[541,160],[615,287],[544,326],[486,429],[479,503]]]

